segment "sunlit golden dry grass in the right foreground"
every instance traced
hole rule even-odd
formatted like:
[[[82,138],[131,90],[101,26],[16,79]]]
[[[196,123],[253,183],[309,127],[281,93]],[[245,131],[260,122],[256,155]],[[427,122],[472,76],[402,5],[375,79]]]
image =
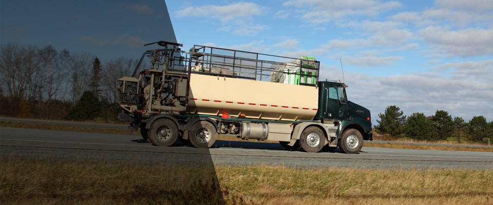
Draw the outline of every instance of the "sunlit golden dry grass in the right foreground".
[[[493,203],[492,170],[216,169],[222,189],[257,204]]]

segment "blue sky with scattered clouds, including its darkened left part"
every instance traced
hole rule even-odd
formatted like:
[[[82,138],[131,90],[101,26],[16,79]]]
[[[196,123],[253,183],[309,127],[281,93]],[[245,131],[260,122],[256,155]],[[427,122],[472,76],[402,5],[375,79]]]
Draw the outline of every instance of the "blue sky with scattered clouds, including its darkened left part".
[[[29,5],[29,6],[26,6]],[[166,40],[309,55],[372,111],[493,120],[493,1],[2,1],[0,40],[138,58]],[[375,121],[374,121],[375,122]]]

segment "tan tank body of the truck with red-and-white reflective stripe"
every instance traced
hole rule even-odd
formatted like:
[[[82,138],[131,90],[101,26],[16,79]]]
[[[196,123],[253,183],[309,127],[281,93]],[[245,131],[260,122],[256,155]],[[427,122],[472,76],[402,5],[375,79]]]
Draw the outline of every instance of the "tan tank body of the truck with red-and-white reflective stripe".
[[[191,74],[186,112],[266,120],[311,120],[318,88],[268,81]]]

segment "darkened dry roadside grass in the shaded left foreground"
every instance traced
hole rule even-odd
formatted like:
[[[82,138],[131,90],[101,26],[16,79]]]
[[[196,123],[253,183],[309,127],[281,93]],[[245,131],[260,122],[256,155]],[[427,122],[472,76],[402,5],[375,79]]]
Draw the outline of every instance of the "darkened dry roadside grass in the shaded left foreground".
[[[2,156],[1,162],[1,204],[217,204],[223,200],[212,165],[178,168],[17,156]]]

